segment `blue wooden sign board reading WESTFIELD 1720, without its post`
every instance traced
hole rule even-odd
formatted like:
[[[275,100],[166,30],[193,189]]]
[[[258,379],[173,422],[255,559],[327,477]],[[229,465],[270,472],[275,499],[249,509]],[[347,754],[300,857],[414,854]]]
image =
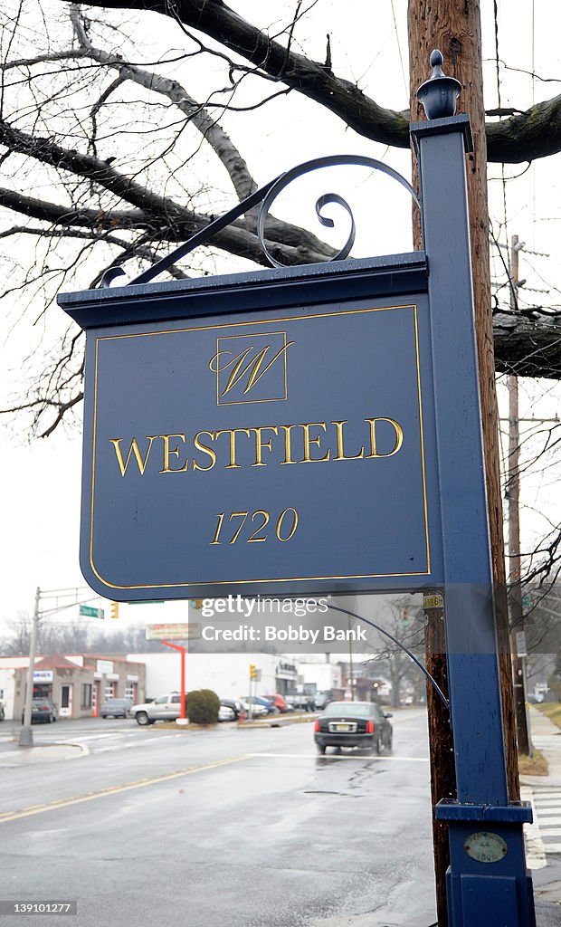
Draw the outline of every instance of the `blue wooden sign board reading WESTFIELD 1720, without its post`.
[[[388,262],[360,263],[358,286],[356,261],[312,279],[265,272],[269,286],[263,272],[214,279],[213,314],[199,314],[200,283],[151,286],[157,301],[96,291],[97,311],[91,292],[61,299],[96,319],[81,551],[96,591],[134,601],[441,578],[427,296],[400,292],[423,277],[422,256],[391,276]],[[335,273],[345,298],[326,299]],[[392,279],[389,294],[364,298],[368,277],[375,290]],[[108,326],[135,305],[146,322]]]

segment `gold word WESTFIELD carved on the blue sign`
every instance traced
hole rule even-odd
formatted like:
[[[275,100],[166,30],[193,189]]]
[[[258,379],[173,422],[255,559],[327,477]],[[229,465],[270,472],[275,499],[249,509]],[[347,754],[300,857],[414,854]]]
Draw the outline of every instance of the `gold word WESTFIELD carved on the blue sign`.
[[[338,419],[216,431],[207,428],[192,438],[185,430],[143,438],[110,438],[109,444],[121,476],[145,476],[147,472],[206,473],[214,467],[234,470],[245,466],[384,460],[399,453],[403,441],[402,426],[395,419],[373,417],[356,423],[354,429],[350,429],[347,419]]]

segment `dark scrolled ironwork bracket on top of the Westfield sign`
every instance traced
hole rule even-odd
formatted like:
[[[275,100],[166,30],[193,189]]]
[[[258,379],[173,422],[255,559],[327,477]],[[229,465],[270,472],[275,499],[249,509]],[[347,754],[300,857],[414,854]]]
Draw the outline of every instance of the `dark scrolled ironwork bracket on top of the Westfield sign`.
[[[230,225],[231,222],[235,222],[236,219],[249,212],[249,210],[252,210],[254,207],[258,206],[259,203],[261,203],[261,209],[259,211],[259,217],[257,221],[257,235],[261,245],[261,250],[273,267],[284,267],[284,264],[273,257],[265,244],[265,222],[267,214],[274,200],[288,186],[288,184],[291,184],[292,181],[296,180],[298,177],[302,177],[311,171],[318,171],[322,168],[339,166],[367,167],[374,171],[380,171],[381,173],[387,174],[389,177],[391,177],[392,180],[397,181],[398,184],[401,184],[407,190],[411,197],[413,197],[414,202],[420,208],[419,198],[417,197],[412,185],[409,184],[404,177],[402,177],[401,173],[394,171],[393,168],[390,168],[388,164],[384,164],[383,161],[378,161],[374,158],[367,158],[363,155],[330,155],[325,158],[314,158],[309,161],[304,161],[302,164],[299,164],[296,167],[291,168],[289,171],[280,174],[278,177],[275,177],[274,180],[270,181],[268,184],[261,186],[259,190],[256,190],[249,197],[243,199],[232,210],[225,212],[223,216],[220,216],[218,219],[210,222],[209,225],[204,227],[204,229],[201,229],[195,235],[192,235],[183,245],[180,245],[179,248],[175,248],[165,258],[156,261],[156,263],[152,264],[151,267],[148,267],[146,271],[140,273],[137,277],[134,277],[134,280],[129,281],[126,286],[149,283],[149,281],[157,277],[159,273],[168,270],[168,268],[170,268],[177,260],[184,258],[185,255],[189,254],[190,251],[195,250],[195,248],[199,248],[201,245],[206,245],[213,237],[213,235],[216,235],[218,232],[222,232],[222,230],[226,228],[226,226]],[[351,231],[343,248],[341,248],[333,258],[326,261],[326,263],[334,260],[345,260],[345,258],[347,258],[351,253],[351,248],[354,243],[356,234],[356,227],[351,207],[349,203],[343,197],[339,197],[337,193],[325,193],[322,197],[317,199],[315,204],[315,212],[319,222],[321,222],[322,225],[327,228],[334,227],[335,222],[328,216],[325,216],[322,212],[324,207],[330,203],[337,204],[347,212],[347,215],[351,220]],[[122,274],[124,274],[124,271],[121,267],[109,267],[101,278],[100,286],[109,286],[113,280],[116,280]]]

